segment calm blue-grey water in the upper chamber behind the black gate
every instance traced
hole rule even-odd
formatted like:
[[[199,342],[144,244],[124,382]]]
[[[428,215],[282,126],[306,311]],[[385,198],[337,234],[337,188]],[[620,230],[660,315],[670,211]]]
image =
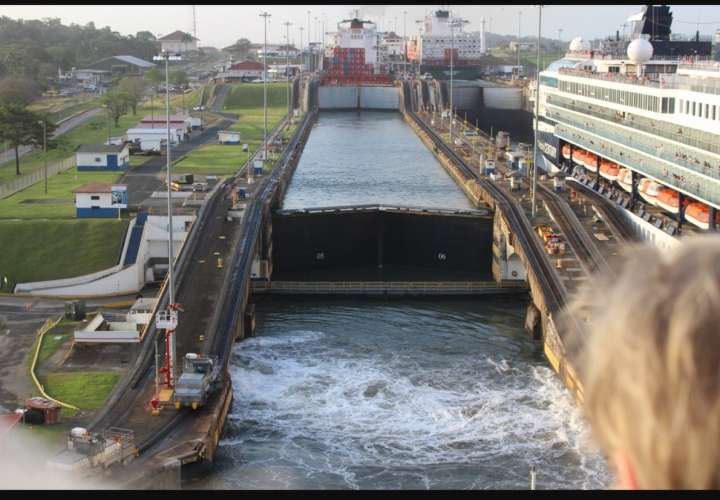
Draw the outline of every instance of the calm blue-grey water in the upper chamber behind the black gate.
[[[397,111],[321,112],[283,208],[370,203],[472,208]]]

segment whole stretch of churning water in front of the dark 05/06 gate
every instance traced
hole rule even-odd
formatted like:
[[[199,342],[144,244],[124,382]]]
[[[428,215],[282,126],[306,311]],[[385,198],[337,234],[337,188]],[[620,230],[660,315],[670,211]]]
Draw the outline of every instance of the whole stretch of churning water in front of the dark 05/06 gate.
[[[603,488],[517,299],[258,303],[202,487]]]

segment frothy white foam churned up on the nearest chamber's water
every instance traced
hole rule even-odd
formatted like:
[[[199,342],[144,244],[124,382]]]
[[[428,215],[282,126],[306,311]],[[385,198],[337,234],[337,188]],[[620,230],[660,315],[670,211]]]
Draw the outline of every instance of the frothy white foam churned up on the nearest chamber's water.
[[[325,336],[302,330],[237,346],[230,419],[255,431],[231,435],[223,447],[243,453],[274,443],[269,463],[306,478],[330,475],[347,488],[373,487],[373,474],[408,467],[413,472],[397,475],[413,476],[413,487],[443,487],[422,470],[495,461],[524,469],[514,473],[523,478],[515,487],[525,487],[530,464],[540,487],[606,486],[602,459],[585,445],[586,425],[550,368],[469,354],[424,373],[412,352],[358,355],[325,345]],[[364,469],[379,472],[358,478]],[[461,487],[497,483],[489,484]]]

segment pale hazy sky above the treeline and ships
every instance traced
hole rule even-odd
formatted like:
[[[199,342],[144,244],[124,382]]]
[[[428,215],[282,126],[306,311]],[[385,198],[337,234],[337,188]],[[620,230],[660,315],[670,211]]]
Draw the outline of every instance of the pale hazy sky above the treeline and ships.
[[[569,41],[575,36],[586,39],[605,37],[622,30],[627,17],[640,11],[640,5],[546,5],[543,7],[543,36]],[[333,31],[338,21],[349,17],[356,9],[361,17],[373,20],[383,30],[396,28],[402,35],[417,30],[415,21],[440,5],[197,5],[196,17],[200,46],[226,47],[239,38],[262,42],[263,23],[260,13],[267,11],[268,43],[285,41],[285,22],[290,26],[290,41],[300,43],[303,28],[303,45],[307,44],[308,14],[313,41],[319,40],[320,22],[326,19],[326,31]],[[469,21],[466,30],[480,28],[485,17],[485,28],[499,34],[516,35],[518,19],[522,36],[537,34],[536,6],[532,5],[458,5],[450,6],[455,15]],[[522,14],[518,16],[518,12]],[[674,14],[673,33],[711,35],[720,29],[720,5],[671,5]],[[403,12],[405,28],[403,28]],[[60,18],[63,24],[86,24],[90,21],[98,28],[110,26],[124,35],[150,31],[166,35],[175,30],[192,33],[191,5],[3,5],[0,15],[14,19]],[[316,18],[318,22],[316,22]],[[558,32],[562,29],[562,32]]]

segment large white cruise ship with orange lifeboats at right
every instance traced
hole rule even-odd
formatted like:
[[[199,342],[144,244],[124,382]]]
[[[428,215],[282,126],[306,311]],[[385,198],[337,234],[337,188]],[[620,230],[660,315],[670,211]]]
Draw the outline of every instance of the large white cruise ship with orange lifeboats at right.
[[[720,64],[699,34],[671,37],[666,5],[628,21],[540,72],[538,166],[611,197],[665,245],[720,224]]]

